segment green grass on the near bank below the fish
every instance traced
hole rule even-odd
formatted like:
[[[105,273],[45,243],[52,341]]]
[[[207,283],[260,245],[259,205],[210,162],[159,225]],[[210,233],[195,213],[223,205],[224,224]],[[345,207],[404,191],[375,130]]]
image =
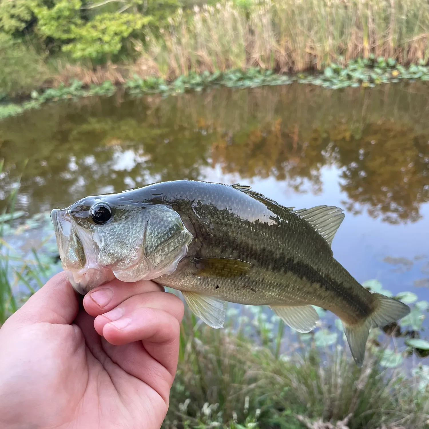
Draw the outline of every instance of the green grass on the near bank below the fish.
[[[309,343],[276,358],[277,338],[259,340],[203,327],[186,313],[164,427],[334,429],[341,420],[343,429],[427,427],[429,390],[418,390],[403,367],[382,368],[379,354],[369,353],[360,369],[340,345],[322,353]]]

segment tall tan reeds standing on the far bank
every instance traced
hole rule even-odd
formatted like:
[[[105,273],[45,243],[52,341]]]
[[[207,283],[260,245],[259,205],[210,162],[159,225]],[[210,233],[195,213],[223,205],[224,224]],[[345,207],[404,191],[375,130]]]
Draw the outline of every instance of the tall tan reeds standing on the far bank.
[[[179,10],[138,49],[146,70],[173,78],[249,66],[320,70],[369,54],[426,62],[428,37],[429,4],[420,0],[236,0]]]

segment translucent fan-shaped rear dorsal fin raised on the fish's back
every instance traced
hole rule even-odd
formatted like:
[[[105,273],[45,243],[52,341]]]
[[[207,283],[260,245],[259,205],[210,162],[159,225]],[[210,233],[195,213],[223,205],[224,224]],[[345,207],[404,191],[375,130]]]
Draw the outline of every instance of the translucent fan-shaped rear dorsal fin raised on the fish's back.
[[[295,210],[294,213],[305,219],[326,240],[329,246],[332,244],[335,233],[345,216],[342,209],[335,207],[335,205],[301,208]]]

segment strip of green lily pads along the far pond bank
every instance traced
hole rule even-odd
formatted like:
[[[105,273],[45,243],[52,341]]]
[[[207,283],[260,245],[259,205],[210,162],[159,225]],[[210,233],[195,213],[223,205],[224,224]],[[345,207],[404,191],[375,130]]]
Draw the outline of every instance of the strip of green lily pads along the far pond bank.
[[[134,74],[128,79],[123,90],[126,94],[139,96],[144,94],[176,95],[186,91],[202,91],[214,86],[226,86],[228,88],[256,88],[264,85],[288,85],[293,82],[300,84],[317,85],[323,88],[340,89],[351,87],[375,87],[389,82],[401,81],[429,81],[429,66],[424,62],[411,64],[404,67],[389,58],[369,58],[350,60],[347,66],[341,67],[331,63],[323,73],[298,73],[296,75],[277,74],[272,70],[261,68],[235,69],[226,72],[201,74],[195,72],[187,76],[179,76],[173,81],[167,81],[160,77],[148,77],[142,79]],[[0,105],[0,119],[11,115],[19,115],[27,109],[38,108],[48,101],[71,99],[76,97],[112,96],[118,88],[106,81],[100,85],[85,86],[79,80],[73,80],[71,85],[63,83],[58,88],[48,88],[39,94],[32,91],[33,100],[18,104]]]

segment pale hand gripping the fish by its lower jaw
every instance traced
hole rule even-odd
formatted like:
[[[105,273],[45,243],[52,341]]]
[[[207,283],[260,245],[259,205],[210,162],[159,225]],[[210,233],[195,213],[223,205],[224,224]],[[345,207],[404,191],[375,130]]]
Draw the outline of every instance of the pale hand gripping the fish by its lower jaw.
[[[2,429],[159,429],[183,303],[152,281],[114,280],[79,308],[61,272],[0,329]]]

